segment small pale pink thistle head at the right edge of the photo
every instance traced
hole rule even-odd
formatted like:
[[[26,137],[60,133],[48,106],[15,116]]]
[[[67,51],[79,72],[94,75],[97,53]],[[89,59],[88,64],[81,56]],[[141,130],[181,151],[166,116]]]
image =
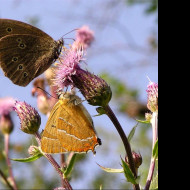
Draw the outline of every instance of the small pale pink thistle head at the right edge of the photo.
[[[148,109],[151,112],[158,111],[158,84],[149,82],[146,92],[148,93]]]

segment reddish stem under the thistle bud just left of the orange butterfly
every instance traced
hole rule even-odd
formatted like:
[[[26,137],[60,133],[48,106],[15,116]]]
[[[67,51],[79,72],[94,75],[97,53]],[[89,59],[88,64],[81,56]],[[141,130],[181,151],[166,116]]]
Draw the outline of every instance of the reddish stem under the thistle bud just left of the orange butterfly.
[[[36,140],[37,140],[39,146],[41,146],[41,137],[40,137],[40,134],[36,133],[35,137],[36,137]],[[63,173],[61,171],[61,167],[55,161],[55,159],[50,154],[46,154],[46,153],[43,153],[43,154],[48,159],[48,161],[51,163],[51,165],[55,168],[55,170],[57,171],[57,173],[60,175],[61,180],[62,180],[62,186],[64,188],[66,188],[67,190],[72,190],[72,187],[71,187],[69,181],[66,178],[64,178],[64,175],[63,175]]]

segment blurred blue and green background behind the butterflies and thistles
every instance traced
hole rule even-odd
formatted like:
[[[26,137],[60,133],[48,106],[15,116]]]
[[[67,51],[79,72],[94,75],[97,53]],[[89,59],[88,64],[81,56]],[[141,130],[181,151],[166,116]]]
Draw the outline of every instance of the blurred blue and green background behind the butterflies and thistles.
[[[67,32],[89,26],[95,41],[86,53],[84,68],[103,77],[111,86],[113,97],[110,106],[128,135],[144,119],[147,112],[146,88],[158,82],[158,7],[156,0],[0,0],[0,18],[30,23],[58,40]],[[75,38],[75,32],[65,36]],[[66,44],[72,40],[66,39]],[[13,97],[25,101],[37,109],[32,97],[32,82],[27,87],[14,85],[0,70],[0,98]],[[79,93],[79,96],[80,93]],[[82,96],[81,96],[82,98]],[[84,105],[92,116],[95,107]],[[28,157],[28,147],[35,144],[31,135],[23,133],[15,112],[11,113],[14,130],[10,136],[11,158]],[[47,117],[41,114],[44,129]],[[127,189],[131,188],[123,174],[110,174],[97,165],[121,168],[125,151],[121,139],[107,116],[93,117],[102,145],[96,148],[96,156],[77,155],[71,174],[73,189]],[[3,153],[3,136],[0,134],[0,168],[6,173]],[[140,184],[145,185],[151,157],[152,130],[147,124],[138,124],[131,142],[132,149],[142,155],[139,168]],[[59,156],[55,156],[59,162]],[[32,163],[13,162],[13,173],[19,189],[52,189],[60,186],[57,173],[45,158]],[[0,189],[6,186],[0,181]]]

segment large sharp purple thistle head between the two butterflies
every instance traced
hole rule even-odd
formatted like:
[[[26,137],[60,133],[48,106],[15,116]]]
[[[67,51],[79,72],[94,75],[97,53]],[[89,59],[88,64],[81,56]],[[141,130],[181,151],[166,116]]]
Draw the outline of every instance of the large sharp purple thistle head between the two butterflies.
[[[69,85],[78,88],[91,105],[107,105],[112,96],[110,87],[103,79],[81,69],[79,66],[81,60],[82,49],[77,52],[72,48],[68,50],[55,71],[55,84],[61,89]]]

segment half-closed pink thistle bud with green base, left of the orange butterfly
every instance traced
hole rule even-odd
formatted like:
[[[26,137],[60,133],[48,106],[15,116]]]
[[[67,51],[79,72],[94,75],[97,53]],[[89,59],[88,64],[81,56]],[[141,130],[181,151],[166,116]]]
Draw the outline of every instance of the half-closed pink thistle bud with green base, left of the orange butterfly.
[[[20,129],[25,133],[35,134],[41,124],[41,117],[38,112],[29,104],[20,101],[16,101],[13,109],[20,118]]]

